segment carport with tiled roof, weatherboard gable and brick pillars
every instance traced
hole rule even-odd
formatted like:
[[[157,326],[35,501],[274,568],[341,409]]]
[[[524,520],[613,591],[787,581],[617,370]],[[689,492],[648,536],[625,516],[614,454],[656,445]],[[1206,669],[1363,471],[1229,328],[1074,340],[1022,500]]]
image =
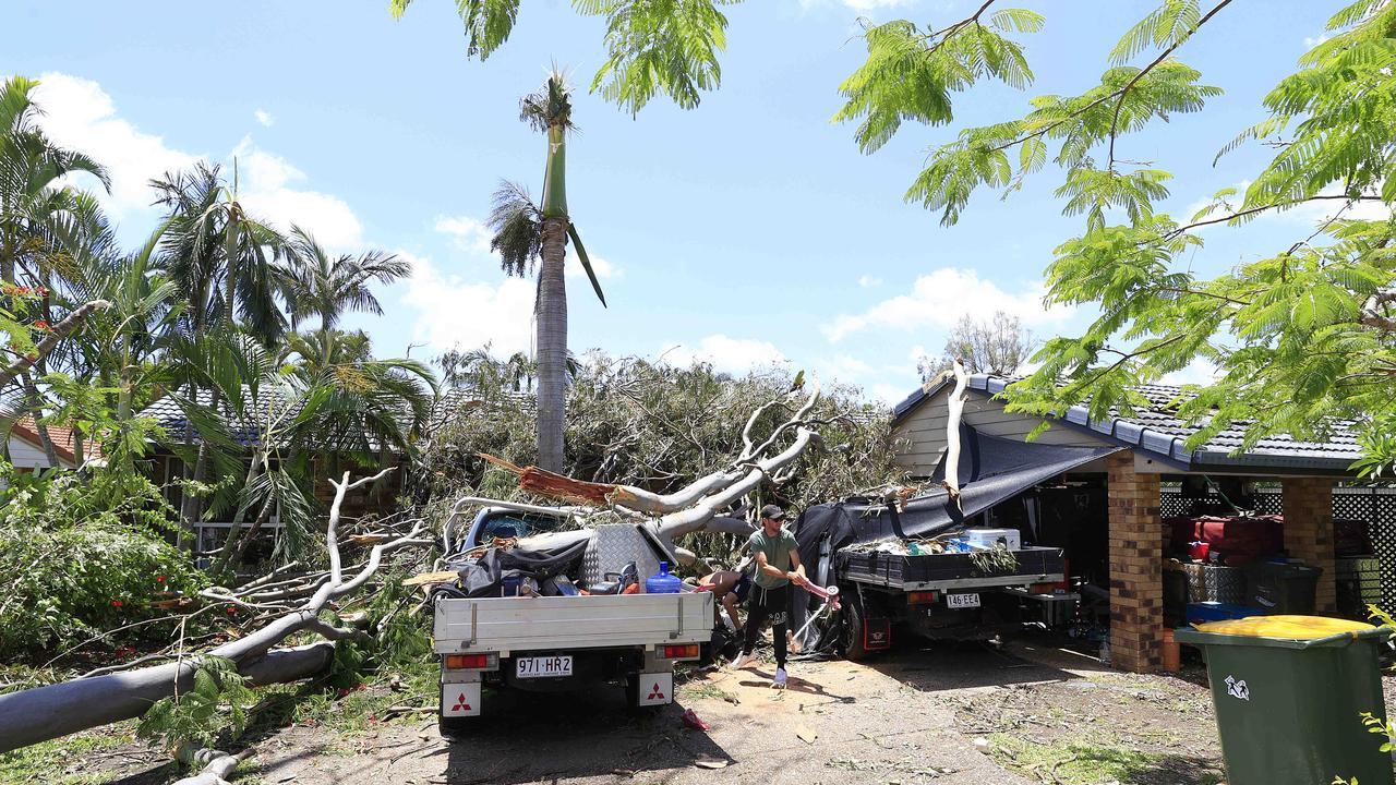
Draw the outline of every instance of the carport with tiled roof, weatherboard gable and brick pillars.
[[[1005,411],[994,395],[1008,384],[1007,379],[972,376],[965,425],[991,436],[1026,440],[1043,419]],[[898,464],[912,476],[930,476],[944,454],[952,387],[948,379],[926,384],[893,409]],[[1335,612],[1333,486],[1353,478],[1349,467],[1358,455],[1354,436],[1342,427],[1323,443],[1277,436],[1233,455],[1242,440],[1240,429],[1231,429],[1189,451],[1184,443],[1195,429],[1180,420],[1171,406],[1181,390],[1157,384],[1139,392],[1150,405],[1132,416],[1092,420],[1085,406],[1072,406],[1065,416],[1048,420],[1051,427],[1039,436],[1047,444],[1120,448],[1078,469],[1106,476],[1114,665],[1134,672],[1152,672],[1161,665],[1167,532],[1160,510],[1161,486],[1168,480],[1206,476],[1280,483],[1284,549],[1323,570],[1315,606],[1321,613]]]

